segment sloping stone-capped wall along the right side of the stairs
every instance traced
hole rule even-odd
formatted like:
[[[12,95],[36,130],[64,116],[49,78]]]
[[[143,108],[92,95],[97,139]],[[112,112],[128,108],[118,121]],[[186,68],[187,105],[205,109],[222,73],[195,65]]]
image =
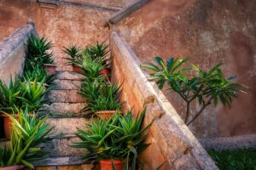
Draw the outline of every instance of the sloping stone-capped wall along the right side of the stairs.
[[[149,147],[140,156],[145,169],[218,169],[189,128],[183,123],[164,94],[148,82],[140,61],[125,39],[116,32],[111,36],[112,81],[122,84],[124,111],[136,114],[147,108],[144,124],[150,127]]]

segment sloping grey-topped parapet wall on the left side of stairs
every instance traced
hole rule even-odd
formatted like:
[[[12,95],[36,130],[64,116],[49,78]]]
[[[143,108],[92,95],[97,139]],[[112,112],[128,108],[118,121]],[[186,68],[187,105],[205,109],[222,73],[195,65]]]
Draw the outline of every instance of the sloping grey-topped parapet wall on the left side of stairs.
[[[0,42],[0,79],[9,83],[9,78],[22,74],[26,40],[31,33],[36,33],[34,26],[28,24],[14,31]]]

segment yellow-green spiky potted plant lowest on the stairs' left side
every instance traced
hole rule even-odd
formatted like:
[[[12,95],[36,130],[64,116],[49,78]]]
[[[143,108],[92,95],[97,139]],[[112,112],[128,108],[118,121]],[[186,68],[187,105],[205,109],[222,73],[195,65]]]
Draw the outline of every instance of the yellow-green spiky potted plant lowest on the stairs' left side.
[[[9,116],[14,124],[14,129],[10,139],[9,148],[0,149],[0,167],[3,170],[17,170],[22,167],[34,168],[31,161],[37,161],[45,156],[41,144],[47,138],[52,128],[45,123],[47,116],[36,117],[34,113],[29,113],[16,108],[19,119],[16,120],[13,116]]]

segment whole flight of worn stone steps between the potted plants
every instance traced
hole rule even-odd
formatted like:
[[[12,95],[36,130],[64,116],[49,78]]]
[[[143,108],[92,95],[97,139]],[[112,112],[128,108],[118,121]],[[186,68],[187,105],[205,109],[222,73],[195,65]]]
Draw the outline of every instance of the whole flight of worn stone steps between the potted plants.
[[[44,106],[44,110],[50,112],[47,122],[55,128],[44,144],[49,158],[35,162],[37,169],[87,170],[93,167],[90,162],[83,162],[83,149],[70,147],[73,141],[79,140],[75,135],[77,127],[84,128],[85,123],[90,122],[90,118],[84,118],[84,113],[80,112],[86,105],[78,94],[81,79],[83,76],[73,71],[56,71],[55,88],[46,96],[50,104]]]

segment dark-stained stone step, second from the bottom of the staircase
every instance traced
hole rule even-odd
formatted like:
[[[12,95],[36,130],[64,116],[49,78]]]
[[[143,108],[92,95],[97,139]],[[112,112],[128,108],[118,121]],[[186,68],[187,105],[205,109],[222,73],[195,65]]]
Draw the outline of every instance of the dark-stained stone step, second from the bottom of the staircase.
[[[42,144],[44,150],[48,152],[49,157],[63,157],[63,156],[84,156],[84,148],[73,148],[71,145],[73,142],[80,141],[79,138],[74,135],[62,136],[61,138],[52,138],[49,141]]]

